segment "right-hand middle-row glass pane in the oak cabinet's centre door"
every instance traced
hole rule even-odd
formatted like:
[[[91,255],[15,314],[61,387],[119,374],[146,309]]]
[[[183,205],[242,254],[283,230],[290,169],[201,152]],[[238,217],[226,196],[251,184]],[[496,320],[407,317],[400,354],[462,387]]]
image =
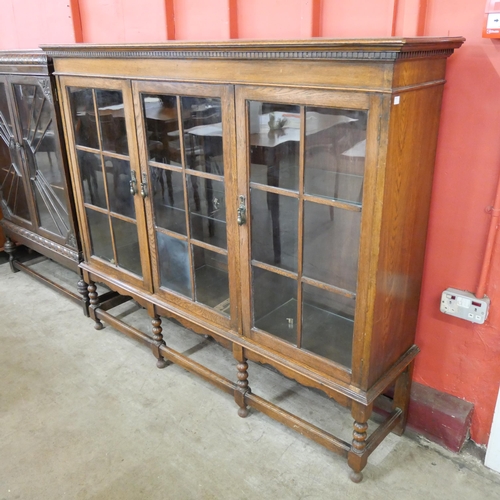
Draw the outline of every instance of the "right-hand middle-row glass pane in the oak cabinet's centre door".
[[[227,248],[224,183],[195,175],[186,177],[191,237]]]

